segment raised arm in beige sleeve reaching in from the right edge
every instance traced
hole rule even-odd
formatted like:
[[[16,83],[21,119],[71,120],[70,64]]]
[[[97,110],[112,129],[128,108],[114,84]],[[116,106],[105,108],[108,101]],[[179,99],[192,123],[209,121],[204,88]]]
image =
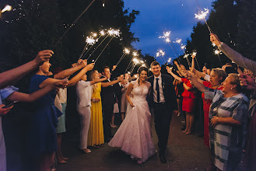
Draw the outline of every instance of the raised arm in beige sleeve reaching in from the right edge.
[[[210,36],[210,40],[212,41],[212,44],[216,44],[216,46],[219,47],[219,50],[223,51],[223,53],[226,54],[226,56],[230,58],[231,61],[235,62],[237,65],[240,65],[242,68],[251,70],[252,72],[254,72],[254,75],[256,75],[256,61],[244,58],[242,54],[239,54],[228,45],[220,42],[219,38],[213,33]]]

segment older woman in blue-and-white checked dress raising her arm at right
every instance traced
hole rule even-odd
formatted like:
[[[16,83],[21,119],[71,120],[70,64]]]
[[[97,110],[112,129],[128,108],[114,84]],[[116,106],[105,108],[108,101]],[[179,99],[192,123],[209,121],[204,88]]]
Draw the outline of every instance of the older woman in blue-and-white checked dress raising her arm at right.
[[[219,170],[235,170],[243,154],[249,103],[241,93],[239,76],[230,74],[223,82],[223,90],[219,90],[197,82],[191,72],[187,72],[187,75],[196,88],[205,92],[205,99],[212,99],[209,138],[214,167]]]

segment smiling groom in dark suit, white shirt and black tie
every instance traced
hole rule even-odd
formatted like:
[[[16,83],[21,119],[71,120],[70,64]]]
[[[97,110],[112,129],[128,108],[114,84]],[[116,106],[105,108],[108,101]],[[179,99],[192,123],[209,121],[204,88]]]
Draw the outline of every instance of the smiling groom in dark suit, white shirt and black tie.
[[[164,152],[167,148],[170,120],[173,111],[177,110],[174,80],[169,75],[161,74],[160,63],[157,61],[153,61],[150,67],[153,76],[148,79],[152,88],[149,95],[149,106],[154,110],[160,161],[166,163]]]

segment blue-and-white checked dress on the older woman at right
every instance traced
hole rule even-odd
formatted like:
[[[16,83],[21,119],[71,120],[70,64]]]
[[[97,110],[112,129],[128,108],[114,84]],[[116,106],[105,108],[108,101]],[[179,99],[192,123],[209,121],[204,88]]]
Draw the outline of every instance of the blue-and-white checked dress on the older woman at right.
[[[215,127],[209,125],[213,163],[221,170],[236,168],[243,152],[249,99],[242,93],[226,98],[221,90],[207,87],[205,87],[205,99],[212,99],[209,120],[213,116],[233,117],[241,123],[240,125],[216,124]]]

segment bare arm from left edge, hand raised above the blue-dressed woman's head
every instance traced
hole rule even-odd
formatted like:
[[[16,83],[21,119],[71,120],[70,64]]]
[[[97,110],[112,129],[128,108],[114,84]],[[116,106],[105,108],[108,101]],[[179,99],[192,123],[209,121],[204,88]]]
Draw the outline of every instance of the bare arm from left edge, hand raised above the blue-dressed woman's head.
[[[17,82],[19,79],[23,78],[24,75],[38,68],[44,63],[44,61],[49,61],[53,54],[54,52],[51,50],[40,51],[33,61],[30,61],[17,68],[13,68],[7,72],[2,72],[0,74],[0,89],[13,85],[14,82]]]

